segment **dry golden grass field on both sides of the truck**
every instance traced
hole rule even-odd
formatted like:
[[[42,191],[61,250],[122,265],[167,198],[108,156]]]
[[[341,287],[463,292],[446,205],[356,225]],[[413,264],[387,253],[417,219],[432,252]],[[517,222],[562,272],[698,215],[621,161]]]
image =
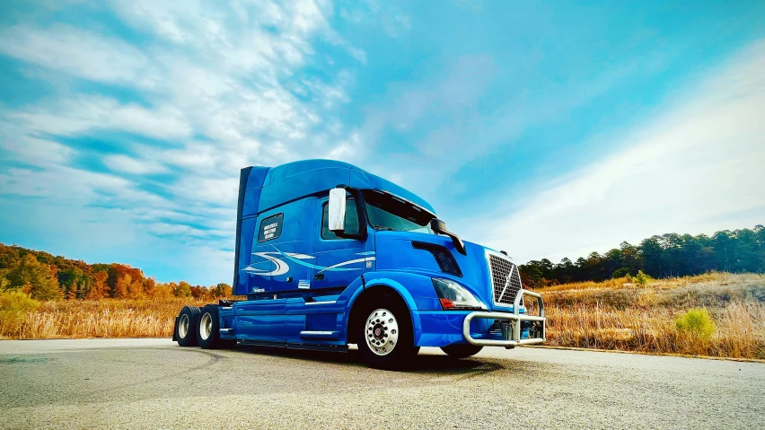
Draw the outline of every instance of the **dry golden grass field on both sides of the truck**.
[[[762,275],[712,273],[646,285],[622,278],[537,291],[550,346],[765,359]],[[202,303],[103,299],[21,306],[0,312],[0,338],[170,337],[180,307]],[[690,310],[696,311],[683,319]]]

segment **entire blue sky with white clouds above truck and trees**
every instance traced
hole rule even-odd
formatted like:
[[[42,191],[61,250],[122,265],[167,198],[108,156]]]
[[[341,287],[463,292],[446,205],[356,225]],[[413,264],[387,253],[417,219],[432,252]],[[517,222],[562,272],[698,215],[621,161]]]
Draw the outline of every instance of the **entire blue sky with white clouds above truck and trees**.
[[[0,3],[0,242],[231,282],[331,158],[517,262],[765,224],[765,3]]]

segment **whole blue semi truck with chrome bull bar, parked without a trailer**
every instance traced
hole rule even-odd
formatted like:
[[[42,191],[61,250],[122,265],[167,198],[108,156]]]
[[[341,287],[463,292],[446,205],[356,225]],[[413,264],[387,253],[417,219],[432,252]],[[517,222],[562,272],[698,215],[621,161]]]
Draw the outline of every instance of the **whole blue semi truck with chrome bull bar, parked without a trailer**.
[[[504,251],[462,241],[424,199],[345,162],[242,169],[233,294],[247,298],[181,309],[173,340],[356,344],[366,364],[392,369],[419,347],[464,358],[545,339],[541,295]]]

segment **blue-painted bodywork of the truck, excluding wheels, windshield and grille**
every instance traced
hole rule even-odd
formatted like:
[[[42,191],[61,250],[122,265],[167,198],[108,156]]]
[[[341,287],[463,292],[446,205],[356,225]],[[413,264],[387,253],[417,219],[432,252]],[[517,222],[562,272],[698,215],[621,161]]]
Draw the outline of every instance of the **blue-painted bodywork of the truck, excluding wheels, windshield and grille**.
[[[434,213],[425,200],[388,180],[344,162],[309,160],[247,168],[240,183],[233,285],[234,294],[249,299],[221,311],[221,327],[233,329],[224,338],[345,346],[354,329],[348,319],[358,297],[371,288],[386,288],[409,308],[417,346],[464,344],[462,322],[474,309],[444,310],[434,277],[462,285],[488,311],[513,311],[493,303],[487,249],[476,243],[465,242],[467,253],[462,254],[450,238],[427,229],[375,230],[367,223],[360,226],[366,231],[363,240],[340,239],[326,225],[322,230],[328,222],[324,206],[337,186],[359,189],[362,195],[383,191]],[[366,205],[367,198],[359,198],[347,200],[348,211]],[[415,248],[413,241],[448,250],[462,276],[444,273],[433,254]],[[500,338],[490,329],[493,322],[473,320],[471,336]],[[523,333],[528,337],[528,329]]]

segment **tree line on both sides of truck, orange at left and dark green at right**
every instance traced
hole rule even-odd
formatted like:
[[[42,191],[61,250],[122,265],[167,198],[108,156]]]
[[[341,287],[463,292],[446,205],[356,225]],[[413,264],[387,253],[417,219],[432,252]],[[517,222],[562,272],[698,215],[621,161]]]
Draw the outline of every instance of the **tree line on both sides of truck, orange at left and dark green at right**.
[[[668,233],[639,245],[623,241],[604,254],[586,258],[532,260],[521,265],[523,285],[539,287],[569,282],[602,281],[611,277],[699,275],[709,271],[765,273],[765,227],[724,230],[711,236]],[[214,299],[232,294],[231,285],[161,283],[125,264],[87,264],[0,243],[0,291],[22,291],[38,300],[98,300],[102,298]]]

